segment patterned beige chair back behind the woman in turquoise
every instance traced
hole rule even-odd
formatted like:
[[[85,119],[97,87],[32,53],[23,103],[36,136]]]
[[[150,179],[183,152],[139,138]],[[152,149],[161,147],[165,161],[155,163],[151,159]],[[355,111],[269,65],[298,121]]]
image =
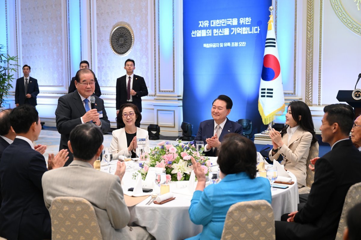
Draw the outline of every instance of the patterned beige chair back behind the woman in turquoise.
[[[274,216],[266,200],[233,204],[226,216],[221,240],[275,239]]]

